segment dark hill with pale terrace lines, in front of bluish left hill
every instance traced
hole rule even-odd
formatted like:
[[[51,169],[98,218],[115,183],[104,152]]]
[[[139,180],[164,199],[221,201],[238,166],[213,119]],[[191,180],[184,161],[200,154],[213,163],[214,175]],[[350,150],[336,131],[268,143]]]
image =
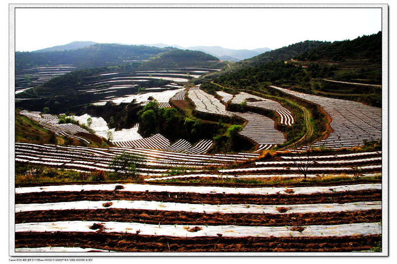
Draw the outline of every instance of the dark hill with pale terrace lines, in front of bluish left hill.
[[[225,63],[212,55],[173,49],[147,61],[66,73],[16,94],[16,105],[29,110],[42,110],[47,106],[54,113],[79,110],[89,103],[131,95],[145,89],[164,91],[180,88],[183,83],[218,71],[223,66]]]

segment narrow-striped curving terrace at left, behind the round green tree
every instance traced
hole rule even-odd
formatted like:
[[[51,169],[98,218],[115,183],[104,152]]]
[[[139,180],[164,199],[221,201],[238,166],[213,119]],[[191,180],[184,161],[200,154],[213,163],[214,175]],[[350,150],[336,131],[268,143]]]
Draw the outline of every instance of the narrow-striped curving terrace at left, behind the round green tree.
[[[149,138],[150,139],[150,138]],[[156,141],[157,140],[157,141]],[[166,145],[164,138],[154,137],[151,144]],[[199,142],[205,145],[205,141]],[[196,144],[197,145],[197,144]],[[163,147],[162,146],[162,147]],[[202,148],[202,147],[201,147]],[[189,149],[193,149],[192,147]],[[187,150],[189,150],[187,149]],[[170,152],[163,150],[154,150],[142,147],[111,147],[109,149],[88,148],[88,147],[65,147],[57,145],[39,145],[30,143],[15,143],[15,161],[27,162],[34,164],[55,165],[68,169],[78,170],[105,170],[110,171],[107,167],[110,161],[117,155],[128,152],[142,155],[146,159],[146,165],[157,168],[170,168],[175,166],[189,166],[201,168],[204,166],[222,165],[235,161],[244,161],[250,158],[256,158],[255,154],[236,154],[234,156],[219,156],[209,154],[192,154],[182,152]],[[157,169],[140,169],[145,171],[144,175],[156,175],[158,172],[166,170]],[[153,174],[154,173],[154,174]]]

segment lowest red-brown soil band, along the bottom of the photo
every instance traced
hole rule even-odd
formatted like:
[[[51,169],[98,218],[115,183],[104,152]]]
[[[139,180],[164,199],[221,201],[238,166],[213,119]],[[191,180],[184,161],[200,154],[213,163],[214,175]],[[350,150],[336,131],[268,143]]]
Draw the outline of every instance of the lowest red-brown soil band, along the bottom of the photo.
[[[176,238],[104,232],[18,232],[15,247],[81,247],[118,252],[351,252],[370,250],[377,235],[285,238]]]

